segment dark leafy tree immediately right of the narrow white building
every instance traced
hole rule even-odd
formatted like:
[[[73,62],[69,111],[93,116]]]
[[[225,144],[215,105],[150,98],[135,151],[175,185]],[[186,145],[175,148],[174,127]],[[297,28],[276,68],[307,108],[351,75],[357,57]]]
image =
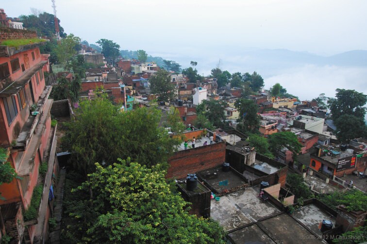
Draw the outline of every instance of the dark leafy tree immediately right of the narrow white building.
[[[215,127],[223,128],[226,120],[224,114],[225,105],[225,102],[219,100],[204,100],[196,107],[196,112],[198,116],[200,114],[204,115]]]

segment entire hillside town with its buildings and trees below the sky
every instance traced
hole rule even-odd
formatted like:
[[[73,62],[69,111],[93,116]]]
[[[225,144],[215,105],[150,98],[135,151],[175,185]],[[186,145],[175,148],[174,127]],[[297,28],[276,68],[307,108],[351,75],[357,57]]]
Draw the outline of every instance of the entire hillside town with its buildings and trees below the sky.
[[[39,16],[0,9],[1,243],[367,241],[366,94],[301,101]]]

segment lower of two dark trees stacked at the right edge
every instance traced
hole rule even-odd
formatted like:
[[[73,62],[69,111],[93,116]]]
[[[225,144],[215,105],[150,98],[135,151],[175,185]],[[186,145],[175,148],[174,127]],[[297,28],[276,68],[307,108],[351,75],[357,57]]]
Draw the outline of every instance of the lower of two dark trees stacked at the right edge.
[[[336,137],[342,143],[349,143],[351,139],[367,137],[367,126],[363,118],[343,114],[334,120]]]

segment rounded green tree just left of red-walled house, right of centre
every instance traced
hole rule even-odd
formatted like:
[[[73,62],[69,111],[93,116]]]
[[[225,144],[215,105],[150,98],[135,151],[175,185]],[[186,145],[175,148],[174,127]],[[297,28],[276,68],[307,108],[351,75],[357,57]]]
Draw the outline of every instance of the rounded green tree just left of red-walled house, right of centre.
[[[298,141],[296,134],[290,131],[278,132],[268,137],[270,151],[273,155],[279,156],[279,152],[287,148],[293,153],[293,158],[300,152],[302,145]]]

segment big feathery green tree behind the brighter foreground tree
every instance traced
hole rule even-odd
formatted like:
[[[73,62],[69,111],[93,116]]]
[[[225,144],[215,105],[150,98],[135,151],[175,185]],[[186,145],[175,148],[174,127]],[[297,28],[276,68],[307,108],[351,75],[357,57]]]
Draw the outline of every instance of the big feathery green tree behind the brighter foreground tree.
[[[110,165],[119,156],[131,156],[143,165],[167,166],[180,141],[158,127],[160,118],[161,112],[153,107],[121,113],[102,93],[80,103],[75,120],[66,123],[62,147],[72,152],[72,164],[85,176],[94,171],[95,162]]]

